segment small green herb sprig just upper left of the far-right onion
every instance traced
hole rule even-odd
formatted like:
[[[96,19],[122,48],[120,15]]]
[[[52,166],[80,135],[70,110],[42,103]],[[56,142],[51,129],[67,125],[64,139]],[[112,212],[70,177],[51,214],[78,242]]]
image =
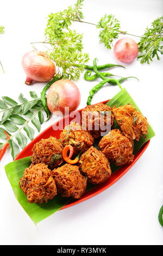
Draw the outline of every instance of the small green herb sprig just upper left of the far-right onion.
[[[114,39],[118,38],[120,21],[118,21],[112,14],[105,14],[105,16],[97,23],[96,28],[100,29],[100,42],[103,42],[106,48],[111,49],[112,42]]]

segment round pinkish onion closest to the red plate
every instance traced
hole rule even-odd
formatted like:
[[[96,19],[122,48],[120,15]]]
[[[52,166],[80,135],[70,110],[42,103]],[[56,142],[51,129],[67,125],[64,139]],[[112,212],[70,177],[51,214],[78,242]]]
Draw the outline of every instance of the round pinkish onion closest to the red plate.
[[[76,84],[70,80],[61,79],[49,88],[47,106],[52,113],[61,111],[64,114],[65,107],[69,107],[69,112],[76,110],[80,104],[80,98]]]

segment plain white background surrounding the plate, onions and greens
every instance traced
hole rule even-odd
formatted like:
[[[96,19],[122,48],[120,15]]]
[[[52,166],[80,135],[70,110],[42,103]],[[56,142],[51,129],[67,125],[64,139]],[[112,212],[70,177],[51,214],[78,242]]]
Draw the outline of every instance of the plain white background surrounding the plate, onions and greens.
[[[31,50],[30,42],[42,41],[46,17],[65,9],[75,1],[28,0],[1,1],[0,26],[5,34],[0,38],[0,59],[5,74],[0,70],[1,96],[17,100],[20,93],[28,97],[30,90],[41,92],[44,84],[24,84],[21,66],[23,54]],[[106,13],[121,21],[121,29],[141,35],[153,20],[162,15],[161,0],[85,0],[85,21],[97,23]],[[99,44],[94,26],[76,23],[74,28],[84,32],[84,50],[90,53],[90,64],[97,57],[99,64],[117,63],[114,54]],[[121,36],[123,37],[123,35]],[[136,38],[133,38],[137,41]],[[41,49],[40,45],[35,45]],[[163,58],[162,58],[163,60]],[[98,196],[48,217],[37,228],[14,197],[4,171],[12,161],[8,150],[0,168],[0,243],[1,245],[157,245],[163,244],[163,229],[158,222],[158,212],[163,203],[162,173],[162,60],[141,65],[135,60],[112,72],[122,76],[136,76],[140,82],[123,83],[133,96],[143,114],[152,124],[156,136],[135,166],[115,185]],[[97,82],[85,82],[83,75],[76,82],[82,94],[80,108]],[[92,103],[110,99],[119,89],[101,89]],[[43,131],[54,117],[42,125]]]

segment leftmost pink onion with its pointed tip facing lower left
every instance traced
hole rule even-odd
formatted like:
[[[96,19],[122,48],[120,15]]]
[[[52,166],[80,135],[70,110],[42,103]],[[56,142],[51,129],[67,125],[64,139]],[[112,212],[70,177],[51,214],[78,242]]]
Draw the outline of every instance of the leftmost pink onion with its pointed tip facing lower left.
[[[55,65],[45,52],[26,52],[22,58],[22,66],[27,75],[25,83],[28,85],[32,81],[49,81],[55,74]]]

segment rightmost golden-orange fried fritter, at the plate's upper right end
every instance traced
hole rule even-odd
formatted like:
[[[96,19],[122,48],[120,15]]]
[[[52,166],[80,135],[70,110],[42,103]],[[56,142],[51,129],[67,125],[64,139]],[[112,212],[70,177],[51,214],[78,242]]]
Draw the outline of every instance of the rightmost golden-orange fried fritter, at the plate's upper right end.
[[[139,141],[141,136],[148,133],[147,118],[137,111],[131,104],[112,109],[117,124],[120,126],[123,134]]]

